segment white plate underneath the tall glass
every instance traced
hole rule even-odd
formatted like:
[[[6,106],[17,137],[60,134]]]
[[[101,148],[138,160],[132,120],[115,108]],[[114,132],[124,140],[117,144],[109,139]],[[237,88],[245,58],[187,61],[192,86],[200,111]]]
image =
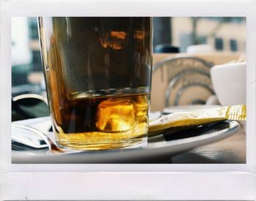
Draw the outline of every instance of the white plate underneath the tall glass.
[[[49,129],[49,118],[37,118],[26,121],[16,121],[15,124],[34,126],[37,129]],[[43,126],[42,126],[43,125]],[[139,149],[118,149],[112,151],[82,151],[78,153],[47,153],[44,151],[12,151],[12,163],[62,163],[62,164],[81,164],[81,163],[162,163],[170,161],[171,156],[178,153],[189,151],[200,145],[206,145],[217,140],[230,136],[239,129],[237,121],[219,123],[208,126],[199,136],[199,132],[206,127],[199,127],[197,130],[191,129],[179,134],[167,135],[172,140],[167,141],[164,135],[151,137],[148,139],[146,148]],[[48,132],[48,134],[52,134]],[[187,137],[192,136],[194,137]],[[184,138],[177,139],[179,136]]]

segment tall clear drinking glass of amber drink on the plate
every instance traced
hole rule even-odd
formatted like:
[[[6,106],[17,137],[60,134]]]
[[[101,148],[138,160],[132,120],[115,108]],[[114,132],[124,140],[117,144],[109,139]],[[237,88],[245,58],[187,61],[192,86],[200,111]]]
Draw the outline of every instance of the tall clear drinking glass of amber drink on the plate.
[[[78,150],[145,146],[151,18],[38,22],[56,142]]]

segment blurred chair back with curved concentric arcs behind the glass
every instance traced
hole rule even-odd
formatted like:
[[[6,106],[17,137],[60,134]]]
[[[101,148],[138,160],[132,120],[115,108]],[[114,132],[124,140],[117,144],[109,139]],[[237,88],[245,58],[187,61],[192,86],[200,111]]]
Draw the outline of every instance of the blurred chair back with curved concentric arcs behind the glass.
[[[205,104],[214,94],[210,75],[212,66],[211,62],[195,57],[165,58],[155,64],[153,75],[161,71],[161,82],[165,83],[162,85],[165,88],[165,107]],[[152,88],[157,88],[154,79]],[[181,101],[181,96],[185,96],[186,101]]]

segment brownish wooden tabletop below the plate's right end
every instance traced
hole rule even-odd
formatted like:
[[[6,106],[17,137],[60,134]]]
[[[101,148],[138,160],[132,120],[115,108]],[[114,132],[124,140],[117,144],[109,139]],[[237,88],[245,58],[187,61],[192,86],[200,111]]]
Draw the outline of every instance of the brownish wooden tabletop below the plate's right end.
[[[175,164],[244,164],[246,163],[246,134],[244,126],[230,137],[173,156]]]

